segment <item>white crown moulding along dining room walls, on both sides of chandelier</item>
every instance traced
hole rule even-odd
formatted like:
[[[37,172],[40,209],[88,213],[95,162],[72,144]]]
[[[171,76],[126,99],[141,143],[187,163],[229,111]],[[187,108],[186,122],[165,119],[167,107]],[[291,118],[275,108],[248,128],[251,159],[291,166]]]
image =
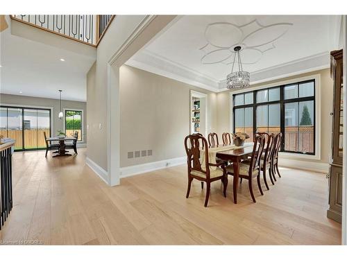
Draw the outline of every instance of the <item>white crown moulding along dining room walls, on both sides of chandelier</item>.
[[[277,80],[301,73],[326,69],[330,66],[329,53],[319,53],[310,57],[294,60],[285,64],[279,64],[267,69],[251,73],[251,84],[263,83],[269,80]],[[149,71],[167,78],[172,78],[189,85],[208,89],[212,92],[223,92],[226,89],[226,80],[217,80],[189,69],[177,62],[151,53],[142,51],[126,62],[127,65]]]

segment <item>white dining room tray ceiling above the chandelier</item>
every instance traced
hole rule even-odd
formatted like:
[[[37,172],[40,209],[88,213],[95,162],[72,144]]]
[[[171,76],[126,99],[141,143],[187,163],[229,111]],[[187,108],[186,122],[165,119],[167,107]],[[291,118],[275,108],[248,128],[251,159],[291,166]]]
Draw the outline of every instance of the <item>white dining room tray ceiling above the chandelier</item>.
[[[127,64],[206,89],[223,89],[232,67],[226,63],[232,62],[233,56],[223,62],[203,63],[227,58],[237,44],[246,47],[270,42],[253,50],[245,49],[244,53],[241,51],[242,61],[253,63],[243,66],[251,72],[252,82],[259,80],[257,73],[260,71],[284,64],[293,64],[286,73],[321,69],[328,67],[329,51],[337,48],[340,19],[328,15],[185,15],[176,19]],[[209,27],[209,24],[214,25]],[[273,24],[278,25],[271,26]],[[252,33],[254,31],[256,33]],[[225,48],[216,51],[216,45]]]

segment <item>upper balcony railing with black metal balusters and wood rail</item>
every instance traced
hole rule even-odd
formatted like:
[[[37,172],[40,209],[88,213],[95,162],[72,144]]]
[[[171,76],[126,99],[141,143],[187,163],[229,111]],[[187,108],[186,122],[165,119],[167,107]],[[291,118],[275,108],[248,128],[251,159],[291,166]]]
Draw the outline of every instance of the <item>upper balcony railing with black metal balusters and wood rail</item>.
[[[16,21],[97,46],[115,15],[11,15]]]

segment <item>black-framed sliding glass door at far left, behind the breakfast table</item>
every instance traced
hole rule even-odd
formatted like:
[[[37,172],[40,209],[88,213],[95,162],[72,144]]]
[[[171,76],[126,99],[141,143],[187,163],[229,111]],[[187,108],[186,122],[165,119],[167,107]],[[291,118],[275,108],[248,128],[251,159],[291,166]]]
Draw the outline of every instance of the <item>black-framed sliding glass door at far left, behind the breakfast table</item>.
[[[51,135],[51,110],[0,107],[0,135],[15,139],[15,150],[45,148],[44,132]]]

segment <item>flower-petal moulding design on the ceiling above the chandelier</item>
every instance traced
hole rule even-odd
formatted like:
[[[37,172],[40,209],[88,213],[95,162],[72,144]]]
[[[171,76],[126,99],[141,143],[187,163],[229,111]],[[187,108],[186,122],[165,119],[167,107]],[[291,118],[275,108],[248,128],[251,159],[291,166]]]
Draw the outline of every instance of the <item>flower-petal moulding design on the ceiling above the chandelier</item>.
[[[255,64],[266,51],[276,48],[276,40],[285,35],[292,25],[276,23],[263,26],[257,19],[242,26],[228,22],[208,24],[205,29],[208,43],[199,49],[205,53],[201,64],[232,64],[235,46],[242,47],[242,64]]]

